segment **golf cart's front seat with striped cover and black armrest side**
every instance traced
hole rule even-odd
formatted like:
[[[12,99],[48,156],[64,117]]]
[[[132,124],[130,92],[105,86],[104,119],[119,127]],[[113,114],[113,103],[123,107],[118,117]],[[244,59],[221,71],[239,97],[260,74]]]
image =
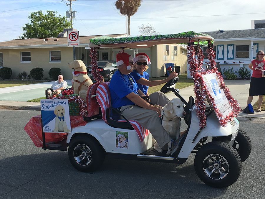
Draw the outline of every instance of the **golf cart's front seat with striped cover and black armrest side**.
[[[116,114],[121,116],[123,119],[115,121],[112,119],[112,116],[110,116],[110,110],[113,110],[114,112],[117,109],[111,108],[109,83],[110,82],[100,83],[97,87],[97,92],[96,92],[97,93],[96,99],[101,108],[102,119],[108,125],[114,128],[135,130],[139,136],[140,141],[143,142],[144,138],[150,133],[149,130],[145,129],[137,121],[127,120],[124,116],[122,116],[122,114],[119,111],[117,111]]]

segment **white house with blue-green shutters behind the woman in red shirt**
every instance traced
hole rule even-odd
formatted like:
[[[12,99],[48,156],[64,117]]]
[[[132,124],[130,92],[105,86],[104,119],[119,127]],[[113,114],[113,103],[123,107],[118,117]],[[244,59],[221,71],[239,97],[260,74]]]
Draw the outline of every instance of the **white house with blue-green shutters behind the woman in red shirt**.
[[[249,63],[255,59],[256,53],[265,49],[265,28],[218,30],[203,33],[214,38],[215,61],[219,62],[222,71],[228,67],[233,67],[235,71],[240,67],[248,67]],[[203,60],[204,68],[206,68],[208,61],[207,48],[206,46],[202,47],[205,57]]]

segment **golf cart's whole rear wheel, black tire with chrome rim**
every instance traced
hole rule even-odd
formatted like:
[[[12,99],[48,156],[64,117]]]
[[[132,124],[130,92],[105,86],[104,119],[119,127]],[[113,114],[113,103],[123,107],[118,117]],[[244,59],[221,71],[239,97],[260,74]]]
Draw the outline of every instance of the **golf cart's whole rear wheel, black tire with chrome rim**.
[[[105,151],[97,140],[89,136],[79,135],[70,141],[68,157],[77,170],[92,172],[102,165]]]

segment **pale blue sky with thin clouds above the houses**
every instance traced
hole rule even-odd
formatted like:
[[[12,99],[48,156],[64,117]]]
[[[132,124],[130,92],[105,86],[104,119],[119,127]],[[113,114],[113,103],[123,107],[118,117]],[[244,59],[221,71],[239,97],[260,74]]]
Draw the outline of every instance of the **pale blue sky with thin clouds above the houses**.
[[[57,11],[65,16],[68,1],[0,0],[0,42],[18,39],[21,27],[29,23],[34,11]],[[72,1],[76,11],[73,28],[80,36],[125,33],[125,17],[114,6],[115,0]],[[216,29],[250,29],[251,20],[265,19],[262,1],[249,0],[143,0],[131,17],[132,36],[139,35],[141,24],[151,24],[161,34],[185,31],[206,32]],[[260,5],[260,6],[259,6]],[[262,9],[259,9],[262,8]]]

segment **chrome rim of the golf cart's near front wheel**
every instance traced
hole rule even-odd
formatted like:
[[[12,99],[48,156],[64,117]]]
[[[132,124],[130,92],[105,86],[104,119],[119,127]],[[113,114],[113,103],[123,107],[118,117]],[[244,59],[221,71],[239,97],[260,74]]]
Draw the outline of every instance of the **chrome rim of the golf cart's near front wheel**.
[[[203,171],[211,179],[220,180],[227,176],[229,164],[223,156],[210,154],[203,160]]]

